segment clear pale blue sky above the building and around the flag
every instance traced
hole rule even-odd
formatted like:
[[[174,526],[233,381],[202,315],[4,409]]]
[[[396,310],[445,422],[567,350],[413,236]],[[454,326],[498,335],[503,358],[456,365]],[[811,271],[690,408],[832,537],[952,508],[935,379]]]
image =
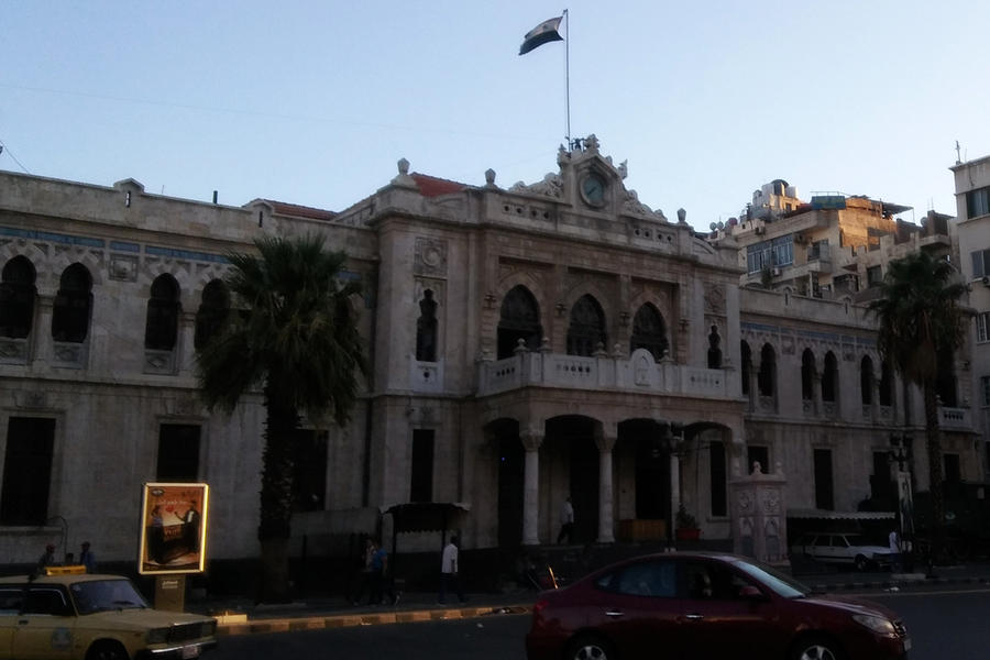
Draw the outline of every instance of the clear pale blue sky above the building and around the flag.
[[[396,161],[535,183],[566,135],[543,0],[0,0],[0,168],[240,206],[341,210]],[[696,229],[783,178],[955,215],[956,141],[990,155],[990,2],[590,2],[570,12],[572,136]],[[564,26],[562,24],[561,30]],[[912,215],[908,213],[908,219]]]

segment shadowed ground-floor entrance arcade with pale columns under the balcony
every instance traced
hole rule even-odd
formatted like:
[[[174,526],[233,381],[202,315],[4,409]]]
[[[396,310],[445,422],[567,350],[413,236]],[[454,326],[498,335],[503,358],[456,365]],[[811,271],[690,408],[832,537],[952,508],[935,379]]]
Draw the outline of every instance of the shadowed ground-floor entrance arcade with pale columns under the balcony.
[[[552,542],[568,497],[573,542],[612,542],[622,519],[671,529],[681,502],[727,515],[725,426],[560,415],[538,425],[502,418],[485,431],[497,458],[501,547]]]

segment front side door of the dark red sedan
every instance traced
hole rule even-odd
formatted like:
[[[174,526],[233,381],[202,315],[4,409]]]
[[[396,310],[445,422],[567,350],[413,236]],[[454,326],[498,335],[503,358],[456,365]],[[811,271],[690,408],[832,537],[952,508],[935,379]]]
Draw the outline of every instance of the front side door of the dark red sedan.
[[[692,559],[679,576],[684,660],[782,657],[788,634],[776,600],[751,579],[717,560]]]

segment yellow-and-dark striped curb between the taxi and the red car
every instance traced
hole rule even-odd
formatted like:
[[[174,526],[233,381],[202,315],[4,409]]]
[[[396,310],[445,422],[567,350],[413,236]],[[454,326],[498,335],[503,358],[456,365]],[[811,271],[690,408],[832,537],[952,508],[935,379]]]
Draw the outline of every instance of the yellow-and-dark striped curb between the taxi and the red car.
[[[454,607],[438,609],[414,609],[405,612],[381,612],[367,614],[328,614],[261,620],[224,620],[218,617],[217,636],[255,635],[266,632],[289,632],[322,628],[351,628],[356,626],[381,626],[388,624],[413,624],[448,619],[466,619],[497,614],[528,614],[531,604]]]

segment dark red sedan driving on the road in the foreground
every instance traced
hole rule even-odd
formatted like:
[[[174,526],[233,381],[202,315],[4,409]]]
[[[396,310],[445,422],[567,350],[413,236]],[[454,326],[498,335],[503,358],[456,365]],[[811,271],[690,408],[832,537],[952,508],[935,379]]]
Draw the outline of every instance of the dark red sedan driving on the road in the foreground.
[[[543,592],[526,636],[528,660],[888,660],[910,649],[882,605],[706,552],[639,557]]]

